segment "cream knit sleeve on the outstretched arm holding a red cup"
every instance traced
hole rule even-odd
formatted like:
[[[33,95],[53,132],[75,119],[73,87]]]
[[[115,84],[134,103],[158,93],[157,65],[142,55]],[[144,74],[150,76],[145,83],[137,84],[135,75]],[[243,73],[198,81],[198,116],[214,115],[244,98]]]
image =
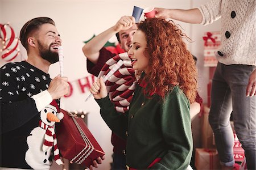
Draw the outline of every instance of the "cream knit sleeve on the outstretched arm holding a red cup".
[[[212,0],[206,5],[199,7],[199,11],[203,16],[203,20],[200,24],[211,24],[221,18],[221,2],[222,0]]]

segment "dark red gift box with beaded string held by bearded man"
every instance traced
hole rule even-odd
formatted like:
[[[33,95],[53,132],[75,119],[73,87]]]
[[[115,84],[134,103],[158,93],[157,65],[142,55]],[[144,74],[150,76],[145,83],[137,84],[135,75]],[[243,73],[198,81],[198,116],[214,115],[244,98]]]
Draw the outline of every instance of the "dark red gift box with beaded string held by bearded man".
[[[56,124],[57,146],[63,158],[89,167],[105,155],[82,118],[60,109],[64,118]]]

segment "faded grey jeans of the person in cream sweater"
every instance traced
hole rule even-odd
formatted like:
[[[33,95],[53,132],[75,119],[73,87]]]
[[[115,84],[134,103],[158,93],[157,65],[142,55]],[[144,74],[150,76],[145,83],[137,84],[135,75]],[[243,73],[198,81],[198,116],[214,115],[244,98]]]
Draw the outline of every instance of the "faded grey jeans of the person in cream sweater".
[[[234,165],[234,129],[245,150],[248,169],[255,169],[256,96],[246,97],[249,76],[255,66],[218,63],[213,76],[209,123],[212,126],[221,164]]]

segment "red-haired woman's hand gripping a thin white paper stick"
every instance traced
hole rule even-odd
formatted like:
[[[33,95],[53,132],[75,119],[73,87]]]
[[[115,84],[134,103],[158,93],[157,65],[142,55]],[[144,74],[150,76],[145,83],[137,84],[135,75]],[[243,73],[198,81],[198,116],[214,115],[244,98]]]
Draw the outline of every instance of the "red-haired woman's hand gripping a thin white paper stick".
[[[93,86],[90,88],[90,93],[93,94],[95,99],[103,99],[108,96],[108,91],[106,90],[106,85],[102,77],[93,83]]]

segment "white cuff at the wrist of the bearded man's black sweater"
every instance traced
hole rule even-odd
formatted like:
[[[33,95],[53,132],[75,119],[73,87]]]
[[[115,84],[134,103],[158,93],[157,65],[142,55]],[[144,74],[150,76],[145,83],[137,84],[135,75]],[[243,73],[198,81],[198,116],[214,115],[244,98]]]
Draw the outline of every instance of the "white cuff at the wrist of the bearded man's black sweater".
[[[47,90],[44,90],[39,94],[31,96],[31,98],[35,100],[38,112],[42,111],[44,107],[46,107],[48,104],[52,102],[52,96],[49,94]]]

